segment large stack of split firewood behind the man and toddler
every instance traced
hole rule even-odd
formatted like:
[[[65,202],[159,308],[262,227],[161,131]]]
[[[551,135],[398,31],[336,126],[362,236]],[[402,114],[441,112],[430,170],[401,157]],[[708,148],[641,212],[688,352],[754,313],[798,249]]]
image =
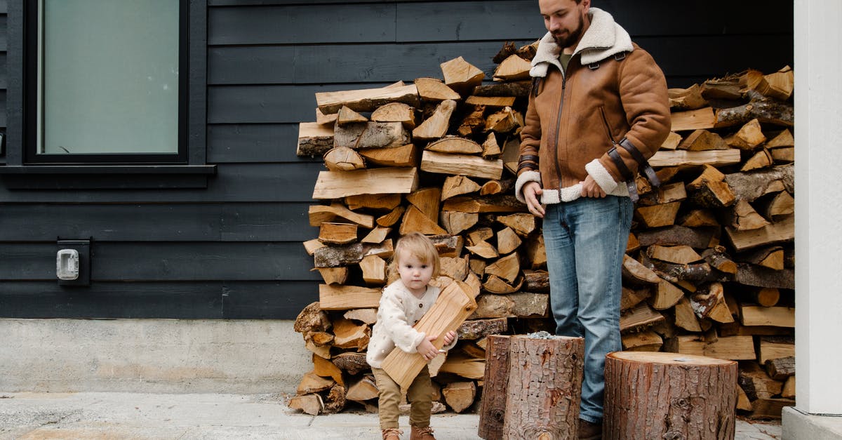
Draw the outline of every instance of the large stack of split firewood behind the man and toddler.
[[[445,287],[477,309],[431,365],[438,403],[476,409],[485,336],[554,328],[540,220],[514,198],[535,46],[504,46],[493,83],[461,57],[443,80],[317,93],[298,154],[322,156],[304,245],[324,283],[296,319],[313,370],[290,406],[376,408],[365,362],[386,265],[402,234],[429,235]],[[673,132],[650,160],[623,264],[625,350],[739,360],[739,409],[775,416],[794,399],[792,72],[747,71],[670,89]],[[776,412],[780,416],[780,410]]]

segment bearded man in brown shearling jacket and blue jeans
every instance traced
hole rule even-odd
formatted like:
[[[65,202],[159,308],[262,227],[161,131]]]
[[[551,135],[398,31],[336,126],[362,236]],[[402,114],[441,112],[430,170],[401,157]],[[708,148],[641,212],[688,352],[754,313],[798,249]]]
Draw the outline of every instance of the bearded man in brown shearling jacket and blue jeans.
[[[548,32],[532,60],[515,194],[544,218],[556,334],[585,340],[579,437],[600,438],[634,175],[657,180],[646,159],[669,134],[669,99],[652,56],[609,13],[590,0],[538,3]]]

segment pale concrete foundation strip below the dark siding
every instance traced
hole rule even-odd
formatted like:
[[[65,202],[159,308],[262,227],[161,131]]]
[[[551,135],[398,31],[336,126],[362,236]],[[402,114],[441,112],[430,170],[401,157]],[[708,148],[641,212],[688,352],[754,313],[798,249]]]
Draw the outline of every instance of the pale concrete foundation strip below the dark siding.
[[[0,319],[7,392],[294,393],[291,320]]]

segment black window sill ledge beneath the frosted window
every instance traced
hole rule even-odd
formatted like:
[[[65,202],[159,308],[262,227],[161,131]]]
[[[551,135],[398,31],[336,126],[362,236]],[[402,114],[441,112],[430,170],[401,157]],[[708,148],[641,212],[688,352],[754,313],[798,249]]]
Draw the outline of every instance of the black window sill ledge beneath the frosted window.
[[[216,165],[6,165],[10,190],[206,188]]]

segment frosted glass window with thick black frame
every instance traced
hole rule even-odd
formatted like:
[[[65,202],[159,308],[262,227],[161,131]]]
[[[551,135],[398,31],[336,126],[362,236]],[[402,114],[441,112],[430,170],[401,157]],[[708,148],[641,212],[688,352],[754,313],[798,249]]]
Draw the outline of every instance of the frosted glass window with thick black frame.
[[[206,186],[216,171],[205,164],[206,8],[189,0],[10,0],[3,182]],[[76,184],[61,185],[68,174]]]

